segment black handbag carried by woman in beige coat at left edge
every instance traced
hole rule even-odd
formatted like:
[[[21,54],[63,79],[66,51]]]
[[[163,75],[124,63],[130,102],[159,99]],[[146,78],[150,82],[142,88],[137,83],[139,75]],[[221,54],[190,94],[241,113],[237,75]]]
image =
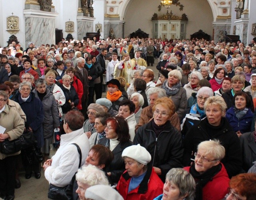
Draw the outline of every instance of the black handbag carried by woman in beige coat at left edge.
[[[6,139],[3,142],[0,142],[0,152],[6,155],[15,154],[22,149],[34,145],[34,143],[34,133],[30,130],[25,130],[23,134],[15,140],[10,141]]]

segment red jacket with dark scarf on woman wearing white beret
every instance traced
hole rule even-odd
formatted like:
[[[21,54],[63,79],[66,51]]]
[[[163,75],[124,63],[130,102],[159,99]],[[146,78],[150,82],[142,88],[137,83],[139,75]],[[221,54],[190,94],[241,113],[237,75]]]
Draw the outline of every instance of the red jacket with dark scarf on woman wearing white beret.
[[[148,168],[146,175],[140,185],[136,189],[130,191],[129,194],[127,194],[131,178],[132,177],[129,176],[128,172],[125,171],[122,174],[116,187],[124,200],[151,200],[160,194],[163,194],[164,184],[154,171],[154,168],[152,168],[151,173]]]

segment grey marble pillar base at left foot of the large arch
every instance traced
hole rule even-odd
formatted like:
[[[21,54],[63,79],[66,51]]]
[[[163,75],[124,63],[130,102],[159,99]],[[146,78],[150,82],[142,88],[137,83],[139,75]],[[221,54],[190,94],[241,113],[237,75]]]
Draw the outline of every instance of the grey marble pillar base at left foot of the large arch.
[[[114,30],[115,38],[122,38],[123,37],[123,26],[124,26],[124,21],[104,20],[104,39],[108,38],[109,31],[111,28]]]

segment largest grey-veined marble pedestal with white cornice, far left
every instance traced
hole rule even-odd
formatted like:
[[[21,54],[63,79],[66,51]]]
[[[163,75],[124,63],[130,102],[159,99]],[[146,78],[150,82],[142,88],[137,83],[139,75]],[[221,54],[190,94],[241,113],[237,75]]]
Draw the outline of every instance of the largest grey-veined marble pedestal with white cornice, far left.
[[[41,10],[23,10],[25,17],[25,43],[33,42],[35,46],[41,44],[55,44],[56,12]]]

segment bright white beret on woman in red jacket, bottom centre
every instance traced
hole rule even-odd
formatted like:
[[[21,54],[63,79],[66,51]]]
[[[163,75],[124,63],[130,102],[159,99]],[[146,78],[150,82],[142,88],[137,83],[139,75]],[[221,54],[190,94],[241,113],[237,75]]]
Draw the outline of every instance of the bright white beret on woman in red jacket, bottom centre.
[[[140,144],[128,146],[122,152],[122,157],[132,158],[141,164],[147,165],[151,160],[150,153]]]

